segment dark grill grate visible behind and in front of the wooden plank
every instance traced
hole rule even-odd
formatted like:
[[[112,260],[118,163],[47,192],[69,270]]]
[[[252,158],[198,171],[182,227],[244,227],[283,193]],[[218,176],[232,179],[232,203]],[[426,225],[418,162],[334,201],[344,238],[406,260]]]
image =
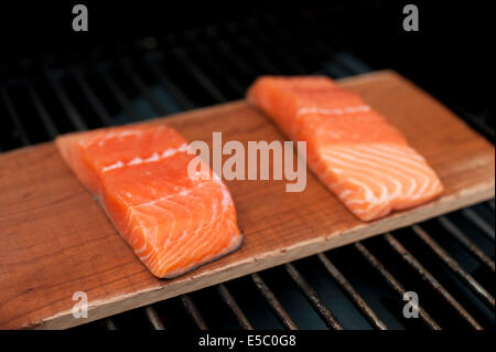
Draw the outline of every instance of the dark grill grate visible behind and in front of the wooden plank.
[[[341,78],[381,68],[323,31],[325,21],[319,11],[298,21],[266,14],[2,64],[0,151],[239,99],[262,74]],[[441,99],[494,140],[487,106]],[[74,329],[494,328],[494,206],[492,200]],[[406,291],[419,295],[418,319],[402,316]]]

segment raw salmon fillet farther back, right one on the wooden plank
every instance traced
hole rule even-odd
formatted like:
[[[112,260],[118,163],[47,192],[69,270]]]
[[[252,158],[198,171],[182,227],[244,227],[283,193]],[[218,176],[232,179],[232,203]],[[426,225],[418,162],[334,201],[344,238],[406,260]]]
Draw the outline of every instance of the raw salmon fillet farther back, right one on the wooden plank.
[[[293,140],[308,164],[363,221],[425,203],[443,191],[403,135],[357,94],[324,76],[263,76],[247,99]]]

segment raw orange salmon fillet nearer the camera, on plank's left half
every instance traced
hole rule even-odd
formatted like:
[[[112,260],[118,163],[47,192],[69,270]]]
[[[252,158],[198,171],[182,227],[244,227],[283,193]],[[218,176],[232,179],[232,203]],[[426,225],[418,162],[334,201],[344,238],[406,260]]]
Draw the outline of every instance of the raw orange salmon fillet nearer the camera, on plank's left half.
[[[69,134],[56,146],[154,276],[173,278],[240,246],[229,191],[206,164],[188,177],[195,156],[171,127]]]

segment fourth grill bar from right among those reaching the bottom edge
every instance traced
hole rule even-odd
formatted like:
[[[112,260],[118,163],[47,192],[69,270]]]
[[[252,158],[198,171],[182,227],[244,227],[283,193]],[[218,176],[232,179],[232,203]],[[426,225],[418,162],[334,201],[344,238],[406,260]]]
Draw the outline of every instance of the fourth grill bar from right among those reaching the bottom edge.
[[[324,320],[325,324],[334,330],[343,330],[342,323],[334,317],[333,312],[324,303],[324,301],[319,297],[315,290],[310,286],[309,282],[303,278],[303,276],[298,271],[298,269],[291,263],[284,264],[284,268],[298,285],[300,290],[304,294],[309,302],[319,313],[319,316]]]

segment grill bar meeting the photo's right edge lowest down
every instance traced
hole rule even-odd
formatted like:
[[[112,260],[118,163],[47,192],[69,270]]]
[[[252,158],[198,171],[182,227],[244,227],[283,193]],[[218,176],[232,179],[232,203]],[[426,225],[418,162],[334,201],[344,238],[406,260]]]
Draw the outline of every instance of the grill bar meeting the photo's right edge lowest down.
[[[423,241],[436,255],[443,260],[443,263],[463,281],[468,288],[476,294],[484,303],[494,309],[494,297],[475,280],[472,275],[465,271],[461,265],[453,259],[419,225],[411,226],[417,236]]]

